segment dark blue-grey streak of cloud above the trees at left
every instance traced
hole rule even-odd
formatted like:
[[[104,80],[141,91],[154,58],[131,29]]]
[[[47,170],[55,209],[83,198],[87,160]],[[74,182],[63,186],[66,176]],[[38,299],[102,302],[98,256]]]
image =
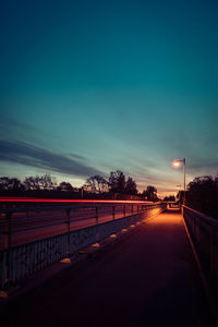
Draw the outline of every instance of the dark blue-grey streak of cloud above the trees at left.
[[[21,164],[65,174],[87,178],[101,171],[81,162],[77,155],[68,156],[25,142],[0,140],[0,160]]]

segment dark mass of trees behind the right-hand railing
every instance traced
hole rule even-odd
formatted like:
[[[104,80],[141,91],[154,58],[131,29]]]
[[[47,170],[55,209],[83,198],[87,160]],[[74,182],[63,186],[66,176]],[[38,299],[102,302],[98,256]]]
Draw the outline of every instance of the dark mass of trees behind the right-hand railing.
[[[186,206],[218,219],[218,175],[197,177],[187,185]]]

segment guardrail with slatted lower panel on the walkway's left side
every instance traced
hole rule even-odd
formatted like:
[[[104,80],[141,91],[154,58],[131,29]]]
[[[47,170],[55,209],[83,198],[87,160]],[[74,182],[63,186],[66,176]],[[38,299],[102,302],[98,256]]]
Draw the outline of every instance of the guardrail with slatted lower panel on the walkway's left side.
[[[102,210],[102,207],[105,210]],[[72,211],[76,209],[87,210],[90,209],[95,215],[88,219],[94,219],[92,226],[71,230]],[[60,262],[66,257],[71,257],[78,251],[87,247],[88,245],[100,242],[111,234],[116,234],[123,229],[133,227],[138,221],[155,216],[166,209],[166,203],[149,204],[149,205],[92,205],[92,207],[75,207],[66,206],[61,207],[32,207],[32,208],[8,208],[0,209],[1,217],[4,219],[4,249],[0,251],[0,288],[7,289],[13,282],[17,282],[27,276],[31,276],[44,268]],[[38,225],[35,227],[19,229],[19,232],[26,230],[37,230],[45,227],[65,226],[65,232],[59,233],[44,239],[12,246],[12,235],[17,230],[12,229],[13,215],[25,214],[29,218],[31,213],[64,213],[64,220],[51,222],[47,225]],[[102,214],[104,211],[104,214]],[[100,221],[101,215],[110,213],[110,220],[105,222]],[[122,217],[117,218],[117,216]],[[86,218],[83,218],[87,220]],[[29,220],[29,219],[28,219]],[[78,219],[81,220],[81,219]]]

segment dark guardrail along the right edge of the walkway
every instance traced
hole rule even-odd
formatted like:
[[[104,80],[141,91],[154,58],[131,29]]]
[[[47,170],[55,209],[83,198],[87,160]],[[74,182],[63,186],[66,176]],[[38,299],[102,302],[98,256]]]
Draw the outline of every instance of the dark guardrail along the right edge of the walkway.
[[[218,220],[186,206],[183,217],[207,281],[218,298]]]

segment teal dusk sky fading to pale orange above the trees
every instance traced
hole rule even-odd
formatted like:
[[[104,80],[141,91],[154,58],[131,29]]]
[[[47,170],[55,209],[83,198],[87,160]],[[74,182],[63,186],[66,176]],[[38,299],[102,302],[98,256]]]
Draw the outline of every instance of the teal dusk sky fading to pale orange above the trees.
[[[4,0],[0,175],[122,170],[174,194],[218,173],[218,2]]]

